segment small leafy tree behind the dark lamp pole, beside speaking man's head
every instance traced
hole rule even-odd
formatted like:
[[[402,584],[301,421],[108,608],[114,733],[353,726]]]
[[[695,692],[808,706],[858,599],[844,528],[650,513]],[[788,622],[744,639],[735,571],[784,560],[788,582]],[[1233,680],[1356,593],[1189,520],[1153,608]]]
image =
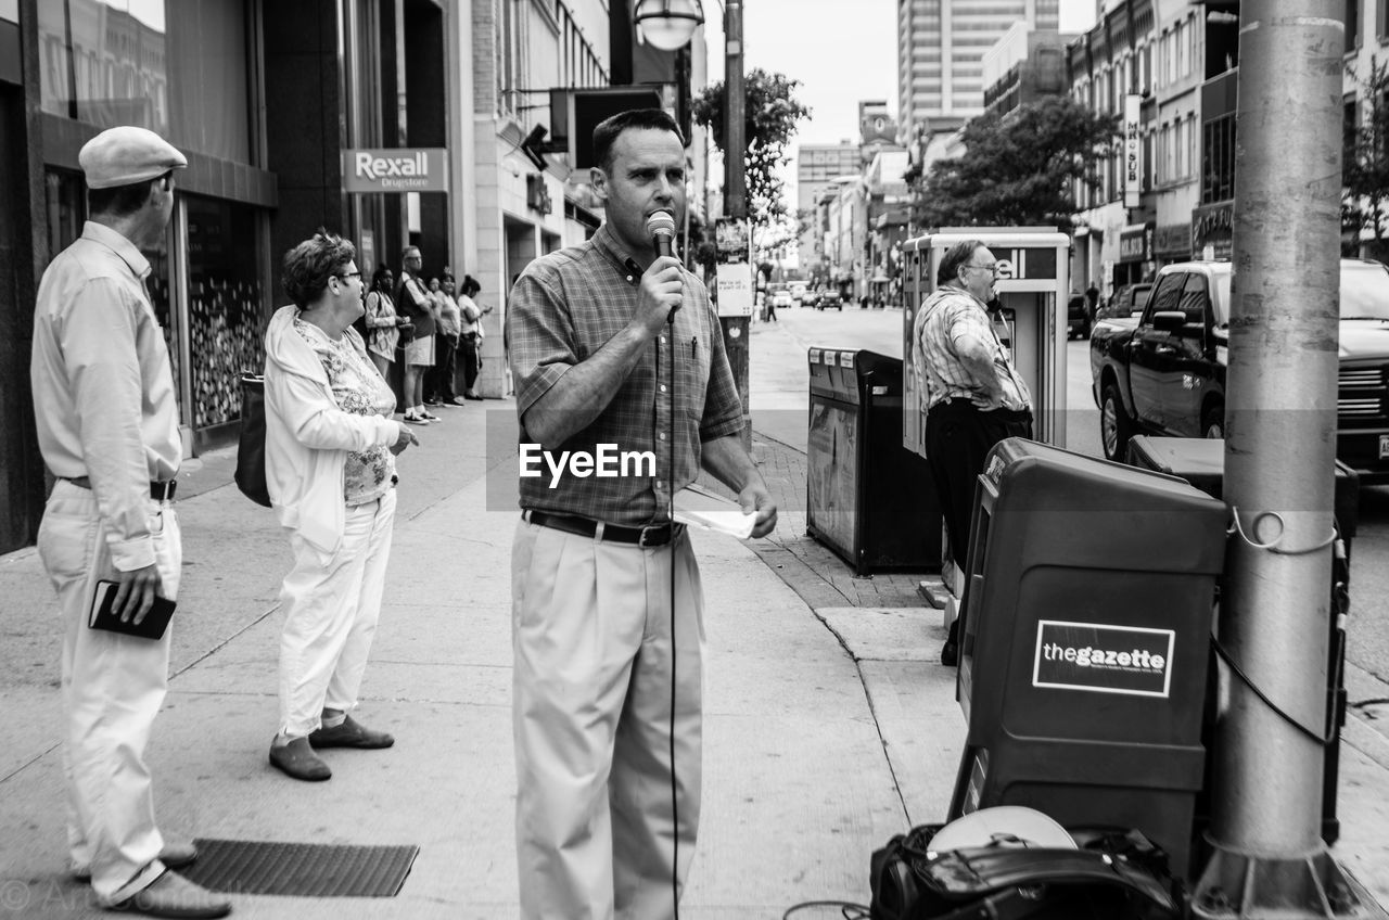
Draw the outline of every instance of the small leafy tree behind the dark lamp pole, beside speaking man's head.
[[[747,104],[743,121],[747,150],[743,163],[747,172],[747,215],[754,228],[770,227],[786,214],[785,183],[776,170],[790,163],[786,143],[796,133],[796,122],[810,115],[796,99],[800,81],[782,74],[768,74],[761,68],[747,74],[745,90]],[[714,145],[728,156],[724,138],[724,83],[713,83],[694,99],[694,121],[710,129]]]

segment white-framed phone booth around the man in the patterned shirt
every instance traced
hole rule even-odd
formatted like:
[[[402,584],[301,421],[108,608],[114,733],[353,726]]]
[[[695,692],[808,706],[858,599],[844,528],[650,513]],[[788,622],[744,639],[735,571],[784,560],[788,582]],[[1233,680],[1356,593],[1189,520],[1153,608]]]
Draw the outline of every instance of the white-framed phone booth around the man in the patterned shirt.
[[[936,289],[940,258],[956,243],[978,239],[999,260],[995,290],[1008,334],[1000,335],[1032,393],[1036,439],[1065,443],[1065,303],[1071,238],[1054,227],[953,227],[903,243],[901,354],[907,367],[903,386],[901,443],[925,456],[926,395],[911,374],[915,349],[913,325],[921,303]]]

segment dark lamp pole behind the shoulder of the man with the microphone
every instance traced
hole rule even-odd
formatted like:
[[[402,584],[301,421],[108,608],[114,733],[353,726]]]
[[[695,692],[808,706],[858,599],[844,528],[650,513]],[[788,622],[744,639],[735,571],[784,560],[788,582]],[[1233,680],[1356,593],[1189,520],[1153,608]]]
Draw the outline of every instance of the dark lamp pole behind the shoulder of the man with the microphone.
[[[724,213],[738,220],[747,220],[747,176],[743,171],[743,149],[747,146],[743,124],[747,100],[743,89],[742,0],[728,0],[724,7]],[[721,317],[720,322],[724,327],[728,364],[738,384],[738,395],[743,400],[743,446],[750,449],[753,414],[747,393],[749,318]]]

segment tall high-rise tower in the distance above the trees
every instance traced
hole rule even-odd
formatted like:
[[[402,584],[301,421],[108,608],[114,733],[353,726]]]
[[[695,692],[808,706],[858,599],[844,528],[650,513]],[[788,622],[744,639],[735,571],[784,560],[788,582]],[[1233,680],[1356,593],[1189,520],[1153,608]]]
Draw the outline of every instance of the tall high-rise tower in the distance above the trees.
[[[1015,22],[1060,25],[1060,0],[897,0],[897,120],[954,128],[983,111],[983,54]],[[928,126],[928,131],[933,128]]]

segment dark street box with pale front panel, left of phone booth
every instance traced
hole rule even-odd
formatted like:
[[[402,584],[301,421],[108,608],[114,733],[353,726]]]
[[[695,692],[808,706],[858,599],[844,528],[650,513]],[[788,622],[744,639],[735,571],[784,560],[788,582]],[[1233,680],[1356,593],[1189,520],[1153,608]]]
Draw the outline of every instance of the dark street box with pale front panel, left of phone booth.
[[[810,349],[806,531],[854,567],[940,571],[940,504],[901,446],[901,359]]]

